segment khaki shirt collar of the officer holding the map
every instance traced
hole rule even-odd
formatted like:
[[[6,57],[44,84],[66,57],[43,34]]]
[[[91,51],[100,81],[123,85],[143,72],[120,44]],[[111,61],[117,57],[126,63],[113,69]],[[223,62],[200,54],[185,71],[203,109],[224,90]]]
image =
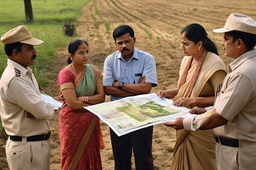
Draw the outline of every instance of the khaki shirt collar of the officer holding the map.
[[[244,54],[242,54],[240,57],[235,59],[233,62],[231,62],[230,65],[228,65],[228,71],[231,69],[231,71],[234,71],[239,65],[241,65],[246,60],[255,57],[256,56],[256,49],[253,49],[251,51],[248,51]]]

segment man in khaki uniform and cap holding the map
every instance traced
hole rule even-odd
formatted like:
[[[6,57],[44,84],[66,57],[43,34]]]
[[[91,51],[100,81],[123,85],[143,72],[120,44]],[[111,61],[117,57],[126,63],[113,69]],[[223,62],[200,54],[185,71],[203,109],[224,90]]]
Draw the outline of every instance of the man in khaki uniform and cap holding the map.
[[[196,107],[190,112],[201,115],[178,118],[166,125],[187,131],[214,128],[218,170],[255,170],[256,21],[246,15],[231,14],[224,28],[213,31],[225,32],[225,55],[235,59],[216,91],[213,110]]]

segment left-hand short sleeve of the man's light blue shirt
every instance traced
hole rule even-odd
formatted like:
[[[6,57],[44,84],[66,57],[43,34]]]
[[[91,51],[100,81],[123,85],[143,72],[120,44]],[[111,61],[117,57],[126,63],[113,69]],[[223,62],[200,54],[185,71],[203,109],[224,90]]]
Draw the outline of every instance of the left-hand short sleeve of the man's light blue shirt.
[[[104,63],[103,68],[103,86],[113,86],[114,83],[113,68],[111,65],[111,58],[108,56]]]

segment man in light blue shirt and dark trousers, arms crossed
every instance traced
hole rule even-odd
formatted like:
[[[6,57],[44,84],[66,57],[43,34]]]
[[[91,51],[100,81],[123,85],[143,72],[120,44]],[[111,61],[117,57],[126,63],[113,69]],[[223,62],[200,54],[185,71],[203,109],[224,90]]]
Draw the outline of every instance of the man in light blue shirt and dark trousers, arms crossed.
[[[121,25],[113,31],[116,52],[105,60],[103,86],[111,100],[127,96],[148,94],[157,86],[156,63],[149,53],[136,49],[134,31]],[[110,129],[115,170],[131,170],[134,151],[136,170],[153,170],[152,156],[153,126],[118,137]]]

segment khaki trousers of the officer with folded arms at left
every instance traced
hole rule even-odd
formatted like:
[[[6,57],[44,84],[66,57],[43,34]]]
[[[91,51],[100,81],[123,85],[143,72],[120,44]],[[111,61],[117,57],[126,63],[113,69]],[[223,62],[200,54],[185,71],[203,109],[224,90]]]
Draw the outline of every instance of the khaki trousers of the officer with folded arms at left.
[[[27,142],[24,137],[20,142],[8,138],[5,152],[10,170],[50,169],[49,140]]]

